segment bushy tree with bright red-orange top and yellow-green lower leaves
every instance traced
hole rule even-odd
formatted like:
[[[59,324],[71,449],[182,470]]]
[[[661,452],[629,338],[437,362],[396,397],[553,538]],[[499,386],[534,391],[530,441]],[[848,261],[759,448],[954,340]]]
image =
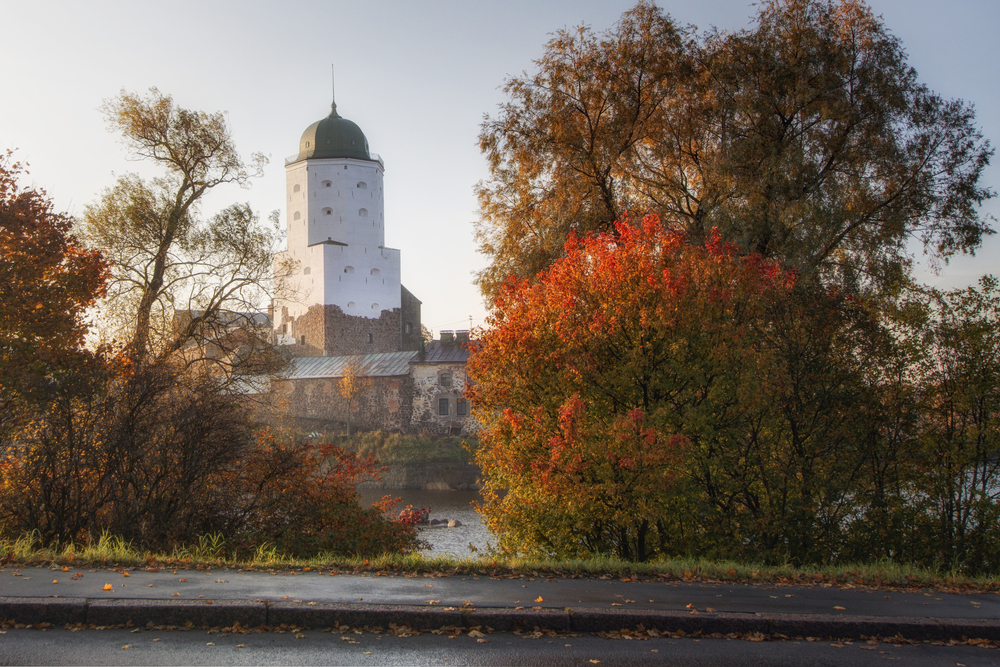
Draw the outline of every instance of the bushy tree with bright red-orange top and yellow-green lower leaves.
[[[565,251],[507,283],[469,362],[481,509],[506,552],[646,560],[686,451],[757,391],[747,341],[795,276],[654,216]]]

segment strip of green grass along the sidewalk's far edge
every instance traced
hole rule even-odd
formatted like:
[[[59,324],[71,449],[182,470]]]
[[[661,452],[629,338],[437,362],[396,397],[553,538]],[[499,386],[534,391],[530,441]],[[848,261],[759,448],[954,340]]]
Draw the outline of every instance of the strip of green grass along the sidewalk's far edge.
[[[322,572],[386,572],[432,576],[472,574],[493,577],[574,577],[654,579],[676,582],[732,584],[837,586],[841,588],[933,588],[949,592],[1000,592],[998,577],[968,577],[957,572],[928,570],[895,563],[792,567],[756,563],[671,559],[655,563],[630,563],[611,558],[537,560],[500,558],[449,558],[422,554],[387,554],[372,558],[344,558],[322,554],[293,559],[266,546],[254,554],[232,557],[217,536],[203,536],[197,545],[171,553],[134,549],[114,537],[102,537],[85,547],[67,545],[45,549],[30,537],[0,540],[4,566],[72,568],[200,568],[244,571],[294,570]]]

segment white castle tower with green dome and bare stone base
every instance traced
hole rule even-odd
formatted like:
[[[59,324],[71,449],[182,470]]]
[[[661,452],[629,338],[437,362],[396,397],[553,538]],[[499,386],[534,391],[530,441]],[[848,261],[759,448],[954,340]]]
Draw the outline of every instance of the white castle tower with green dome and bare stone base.
[[[400,283],[399,250],[385,247],[382,158],[337,113],[302,133],[285,160],[288,250],[275,256],[278,340],[296,356],[416,350],[420,301]]]

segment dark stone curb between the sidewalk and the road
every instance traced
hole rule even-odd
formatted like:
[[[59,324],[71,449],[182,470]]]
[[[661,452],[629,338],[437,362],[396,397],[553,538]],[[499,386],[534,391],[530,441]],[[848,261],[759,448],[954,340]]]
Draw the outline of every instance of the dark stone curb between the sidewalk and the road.
[[[89,598],[0,598],[0,618],[32,625],[51,623],[225,627],[292,625],[328,628],[339,625],[409,625],[415,630],[445,626],[489,627],[498,632],[535,627],[569,632],[616,632],[639,625],[685,634],[783,634],[789,637],[903,637],[948,641],[966,638],[1000,640],[1000,619],[760,614],[678,610],[509,609],[424,607],[344,603],[255,602],[252,600],[102,600]]]

